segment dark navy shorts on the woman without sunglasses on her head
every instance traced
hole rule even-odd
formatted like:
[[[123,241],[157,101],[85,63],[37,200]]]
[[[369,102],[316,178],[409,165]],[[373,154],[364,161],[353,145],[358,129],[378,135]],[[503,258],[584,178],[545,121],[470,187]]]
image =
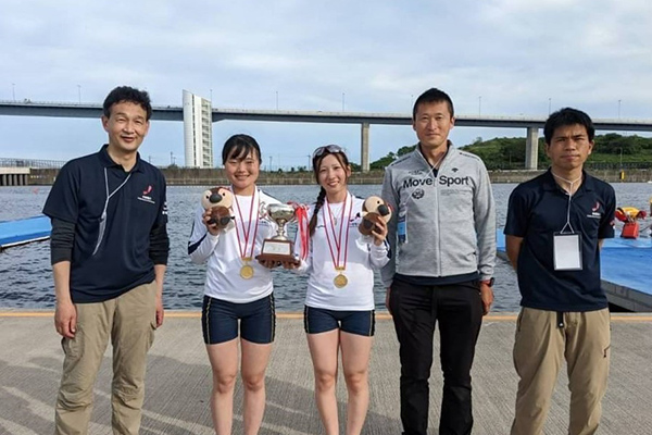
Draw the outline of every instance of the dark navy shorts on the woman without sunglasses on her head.
[[[274,341],[276,332],[274,295],[246,303],[234,303],[204,296],[201,328],[206,345],[216,345],[238,337],[238,321],[240,321],[242,339],[260,345]]]

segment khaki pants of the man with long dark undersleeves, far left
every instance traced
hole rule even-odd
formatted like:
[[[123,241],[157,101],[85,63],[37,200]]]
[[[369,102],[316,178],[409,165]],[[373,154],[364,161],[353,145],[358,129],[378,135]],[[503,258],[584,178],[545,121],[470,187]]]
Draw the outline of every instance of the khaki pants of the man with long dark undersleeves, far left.
[[[75,338],[63,338],[63,375],[57,398],[55,434],[88,433],[92,388],[111,336],[113,433],[138,434],[145,398],[147,352],[156,326],[155,282],[99,303],[77,303]]]

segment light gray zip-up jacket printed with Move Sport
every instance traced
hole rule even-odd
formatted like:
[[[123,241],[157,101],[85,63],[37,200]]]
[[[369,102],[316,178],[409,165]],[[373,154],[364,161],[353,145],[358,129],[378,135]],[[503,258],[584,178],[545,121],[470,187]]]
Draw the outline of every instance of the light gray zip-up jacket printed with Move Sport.
[[[387,239],[394,254],[381,270],[386,287],[394,273],[493,275],[496,211],[489,175],[477,156],[449,142],[434,178],[417,146],[385,170],[383,198],[393,211]]]

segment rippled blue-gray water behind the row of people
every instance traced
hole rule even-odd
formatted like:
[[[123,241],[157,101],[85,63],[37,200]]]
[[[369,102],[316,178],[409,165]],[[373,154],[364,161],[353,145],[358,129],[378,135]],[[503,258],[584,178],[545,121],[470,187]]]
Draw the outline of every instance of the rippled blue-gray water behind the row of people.
[[[514,184],[493,185],[497,222],[505,223],[507,199]],[[648,210],[651,184],[614,185],[619,206]],[[350,186],[360,197],[377,195],[380,186]],[[168,233],[171,252],[165,275],[164,303],[167,309],[201,307],[205,268],[192,264],[187,256],[192,213],[204,187],[171,186]],[[317,186],[264,186],[263,190],[281,201],[312,202]],[[50,187],[0,187],[0,221],[40,214]],[[644,226],[644,225],[643,225]],[[647,233],[647,232],[645,232]],[[36,243],[0,252],[0,308],[48,309],[54,307],[54,289],[50,269],[49,243]],[[278,311],[301,311],[305,295],[305,277],[284,270],[274,271],[275,299]],[[521,297],[516,275],[503,260],[497,259],[493,311],[517,311]],[[376,274],[375,299],[378,310],[385,310],[385,289]]]

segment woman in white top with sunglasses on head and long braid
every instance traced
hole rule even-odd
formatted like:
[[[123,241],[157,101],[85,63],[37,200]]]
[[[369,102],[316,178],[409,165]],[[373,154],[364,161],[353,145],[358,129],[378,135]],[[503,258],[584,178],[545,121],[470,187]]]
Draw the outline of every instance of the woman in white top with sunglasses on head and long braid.
[[[346,433],[359,434],[369,400],[368,362],[375,327],[373,269],[389,261],[387,226],[379,220],[372,236],[360,234],[364,200],[348,190],[351,166],[340,147],[317,148],[313,171],[321,190],[316,203],[304,219],[299,219],[294,247],[300,259],[297,271],[309,275],[304,328],[315,373],[315,398],[326,433],[337,434],[335,383],[341,350],[349,395]]]

